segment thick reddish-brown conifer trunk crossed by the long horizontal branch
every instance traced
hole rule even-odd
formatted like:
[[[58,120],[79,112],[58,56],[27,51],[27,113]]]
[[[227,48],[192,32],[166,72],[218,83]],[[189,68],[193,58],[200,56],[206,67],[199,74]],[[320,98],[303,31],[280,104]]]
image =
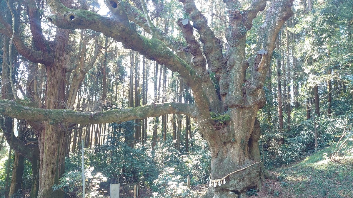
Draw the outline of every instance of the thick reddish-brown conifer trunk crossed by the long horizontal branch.
[[[64,109],[66,60],[64,58],[69,30],[56,30],[53,47],[54,61],[47,65],[46,109]],[[43,123],[43,130],[39,134],[40,175],[38,198],[62,197],[60,191],[53,191],[65,172],[65,151],[67,124],[60,120]],[[56,156],[55,158],[53,156]]]

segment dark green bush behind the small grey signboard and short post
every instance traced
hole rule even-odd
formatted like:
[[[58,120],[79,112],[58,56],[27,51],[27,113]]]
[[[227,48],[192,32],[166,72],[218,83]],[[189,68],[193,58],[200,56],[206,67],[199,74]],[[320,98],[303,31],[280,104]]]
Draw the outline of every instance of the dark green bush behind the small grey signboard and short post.
[[[138,144],[132,149],[124,142],[115,142],[114,145],[101,145],[85,151],[85,166],[95,167],[95,170],[102,172],[110,181],[119,181],[122,191],[130,190],[137,182],[142,187],[149,186],[158,175],[149,148]],[[71,155],[66,162],[66,171],[79,169],[80,153]]]

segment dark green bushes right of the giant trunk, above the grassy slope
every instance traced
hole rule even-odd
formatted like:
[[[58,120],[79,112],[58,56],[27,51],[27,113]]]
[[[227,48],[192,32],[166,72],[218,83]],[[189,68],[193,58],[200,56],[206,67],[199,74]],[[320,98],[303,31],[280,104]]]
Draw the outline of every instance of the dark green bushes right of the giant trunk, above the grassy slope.
[[[316,120],[318,149],[337,142],[339,139],[337,137],[342,134],[348,120],[346,117],[318,117]],[[290,133],[273,134],[269,130],[264,131],[260,139],[260,144],[262,144],[260,148],[261,146],[264,148],[261,151],[265,156],[264,165],[268,168],[288,165],[315,151],[312,119],[295,117]]]

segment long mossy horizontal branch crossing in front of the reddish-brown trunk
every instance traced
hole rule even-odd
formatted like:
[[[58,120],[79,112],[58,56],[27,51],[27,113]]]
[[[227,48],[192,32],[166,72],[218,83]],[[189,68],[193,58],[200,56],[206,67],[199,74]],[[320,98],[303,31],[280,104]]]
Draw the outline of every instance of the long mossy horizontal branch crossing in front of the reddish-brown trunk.
[[[196,108],[194,104],[185,103],[161,103],[149,104],[126,109],[116,109],[99,112],[79,112],[73,110],[38,109],[26,107],[15,103],[13,100],[0,99],[0,113],[2,115],[31,121],[46,121],[49,124],[70,122],[77,124],[102,124],[121,123],[133,119],[144,119],[165,114],[184,114],[195,117]]]

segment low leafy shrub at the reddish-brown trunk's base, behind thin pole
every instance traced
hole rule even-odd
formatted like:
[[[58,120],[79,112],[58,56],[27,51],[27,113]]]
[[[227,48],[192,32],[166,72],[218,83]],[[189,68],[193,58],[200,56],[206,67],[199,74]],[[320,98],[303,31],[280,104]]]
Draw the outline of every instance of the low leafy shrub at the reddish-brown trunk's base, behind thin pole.
[[[85,169],[85,198],[104,197],[103,194],[106,192],[101,189],[99,184],[106,182],[107,178],[103,177],[101,173],[92,175],[94,167]],[[69,171],[65,173],[60,179],[59,184],[55,184],[53,190],[61,190],[68,194],[75,195],[76,197],[82,197],[82,171]]]

